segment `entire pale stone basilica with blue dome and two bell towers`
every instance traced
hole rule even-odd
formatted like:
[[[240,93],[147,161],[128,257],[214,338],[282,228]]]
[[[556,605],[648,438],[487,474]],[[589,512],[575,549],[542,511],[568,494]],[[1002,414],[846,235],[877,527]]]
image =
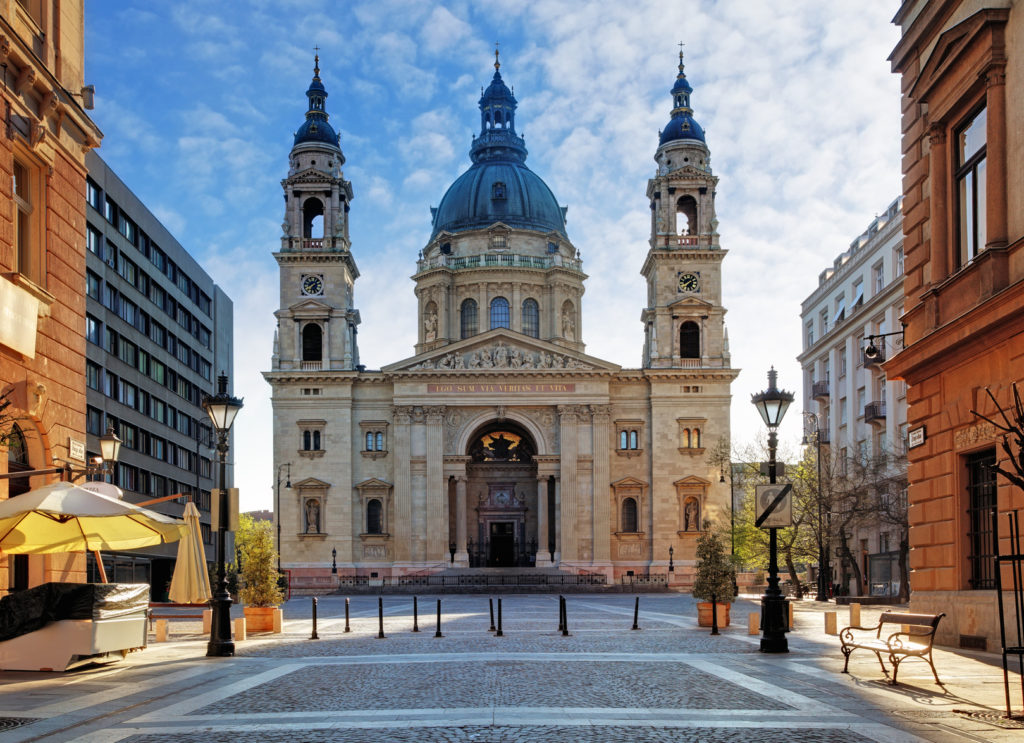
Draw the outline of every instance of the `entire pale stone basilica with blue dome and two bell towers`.
[[[738,372],[718,178],[681,55],[678,70],[647,185],[649,248],[636,256],[647,285],[641,368],[586,353],[582,250],[565,207],[525,164],[496,54],[471,164],[411,257],[413,355],[369,370],[356,345],[353,189],[317,60],[282,181],[264,373],[293,579],[511,567],[617,579],[667,573],[672,561],[685,581],[700,530],[728,518],[721,451]]]

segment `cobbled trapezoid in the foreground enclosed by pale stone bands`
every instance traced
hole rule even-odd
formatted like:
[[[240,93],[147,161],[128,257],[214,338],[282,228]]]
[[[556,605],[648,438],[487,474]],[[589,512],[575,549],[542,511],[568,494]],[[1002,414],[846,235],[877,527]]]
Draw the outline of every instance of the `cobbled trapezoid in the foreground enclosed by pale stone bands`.
[[[400,685],[400,686],[399,686]],[[400,693],[395,693],[400,688]],[[518,661],[312,665],[197,710],[460,707],[785,709],[785,705],[677,663]]]

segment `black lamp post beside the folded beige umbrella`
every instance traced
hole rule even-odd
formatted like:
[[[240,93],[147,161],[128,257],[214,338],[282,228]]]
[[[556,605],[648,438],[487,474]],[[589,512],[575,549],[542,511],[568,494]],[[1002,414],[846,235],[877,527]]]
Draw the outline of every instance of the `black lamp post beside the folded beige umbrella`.
[[[227,593],[227,571],[224,565],[224,539],[227,532],[227,434],[234,423],[234,417],[242,409],[242,400],[227,394],[227,376],[217,378],[217,394],[203,398],[203,407],[210,417],[217,432],[217,460],[220,463],[219,510],[217,518],[217,589],[210,601],[213,621],[210,625],[210,642],[206,648],[208,657],[234,655],[231,640],[231,597]]]

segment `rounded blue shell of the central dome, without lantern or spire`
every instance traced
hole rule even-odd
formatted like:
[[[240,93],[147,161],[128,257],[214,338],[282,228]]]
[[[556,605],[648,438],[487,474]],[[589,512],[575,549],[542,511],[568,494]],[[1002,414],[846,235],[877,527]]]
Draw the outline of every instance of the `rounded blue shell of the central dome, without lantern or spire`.
[[[453,183],[434,210],[433,233],[503,222],[510,227],[565,234],[565,213],[548,184],[522,163],[476,163]]]

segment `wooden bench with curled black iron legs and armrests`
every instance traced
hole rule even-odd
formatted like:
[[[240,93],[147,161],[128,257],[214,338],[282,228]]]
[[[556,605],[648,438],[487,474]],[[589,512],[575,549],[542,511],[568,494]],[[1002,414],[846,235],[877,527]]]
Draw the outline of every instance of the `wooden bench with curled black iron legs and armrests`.
[[[906,658],[921,658],[932,667],[932,674],[935,683],[942,686],[939,674],[935,670],[935,663],[932,661],[932,644],[935,642],[935,630],[939,626],[939,620],[945,614],[907,614],[894,611],[887,611],[879,617],[879,623],[873,627],[845,627],[840,632],[841,650],[846,657],[843,663],[843,672],[849,673],[847,668],[850,665],[850,653],[854,650],[869,650],[874,653],[882,665],[882,671],[889,675],[882,654],[889,656],[889,662],[893,664],[892,684],[896,684],[896,674],[899,672],[899,664]],[[886,626],[897,626],[894,631],[883,638],[882,630]],[[904,630],[905,627],[905,630]]]

